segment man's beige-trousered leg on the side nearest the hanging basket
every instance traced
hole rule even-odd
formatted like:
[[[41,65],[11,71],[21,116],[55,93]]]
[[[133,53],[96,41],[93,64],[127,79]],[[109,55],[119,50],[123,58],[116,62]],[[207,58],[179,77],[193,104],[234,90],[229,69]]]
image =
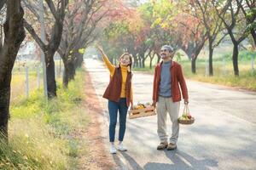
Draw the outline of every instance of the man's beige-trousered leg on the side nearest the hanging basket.
[[[167,102],[167,111],[172,121],[172,137],[170,138],[170,143],[176,144],[178,133],[179,133],[179,124],[177,122],[179,105],[180,102],[172,102],[172,98],[168,98]]]

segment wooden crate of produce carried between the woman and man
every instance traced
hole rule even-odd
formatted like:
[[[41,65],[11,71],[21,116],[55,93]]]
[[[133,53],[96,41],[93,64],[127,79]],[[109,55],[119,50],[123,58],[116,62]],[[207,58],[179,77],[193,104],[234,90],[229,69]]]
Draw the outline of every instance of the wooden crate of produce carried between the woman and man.
[[[154,106],[129,111],[129,118],[130,119],[134,119],[134,118],[137,118],[137,117],[143,117],[143,116],[152,116],[152,115],[156,115]]]

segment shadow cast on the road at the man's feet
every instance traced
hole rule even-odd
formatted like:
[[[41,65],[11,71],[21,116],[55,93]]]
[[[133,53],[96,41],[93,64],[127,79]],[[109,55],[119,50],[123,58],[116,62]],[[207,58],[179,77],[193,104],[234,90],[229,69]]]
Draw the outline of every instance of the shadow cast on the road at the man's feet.
[[[212,159],[203,159],[197,160],[193,156],[189,156],[189,154],[184,153],[181,150],[173,150],[173,151],[164,151],[166,156],[172,161],[171,163],[157,163],[157,162],[148,162],[143,169],[146,170],[160,170],[160,169],[178,169],[178,170],[186,170],[186,169],[201,169],[208,170],[209,167],[218,167],[218,161]]]

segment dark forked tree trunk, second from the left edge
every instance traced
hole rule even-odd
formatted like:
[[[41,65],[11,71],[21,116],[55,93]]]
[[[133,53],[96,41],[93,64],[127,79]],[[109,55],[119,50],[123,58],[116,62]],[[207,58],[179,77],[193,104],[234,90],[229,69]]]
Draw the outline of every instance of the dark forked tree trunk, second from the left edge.
[[[57,95],[54,54],[61,43],[63,20],[65,18],[65,9],[67,7],[68,0],[59,0],[57,2],[53,0],[45,0],[45,2],[47,3],[50,13],[54,19],[52,22],[52,27],[49,29],[50,31],[47,32],[48,41],[43,42],[43,40],[38,36],[38,33],[33,29],[32,25],[29,24],[26,20],[25,27],[44,52],[47,77],[47,93],[48,98],[51,99]]]

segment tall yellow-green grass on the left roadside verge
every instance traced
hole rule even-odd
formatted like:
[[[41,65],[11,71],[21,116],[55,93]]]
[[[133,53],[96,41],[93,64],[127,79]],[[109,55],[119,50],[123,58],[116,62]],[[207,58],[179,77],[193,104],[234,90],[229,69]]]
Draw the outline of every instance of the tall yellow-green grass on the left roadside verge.
[[[0,169],[76,169],[79,141],[73,133],[90,122],[84,114],[84,71],[56,99],[42,89],[10,107],[9,144],[0,141]],[[83,150],[86,151],[86,150]]]

